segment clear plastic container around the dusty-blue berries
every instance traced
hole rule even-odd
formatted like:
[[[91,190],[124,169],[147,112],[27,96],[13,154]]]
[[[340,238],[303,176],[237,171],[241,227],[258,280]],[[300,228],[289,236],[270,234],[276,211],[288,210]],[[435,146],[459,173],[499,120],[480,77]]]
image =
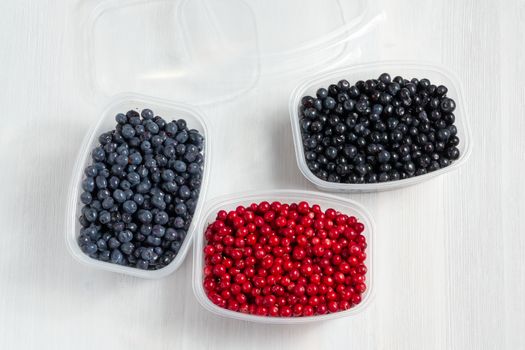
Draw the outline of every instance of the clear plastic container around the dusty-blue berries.
[[[80,216],[80,210],[83,206],[83,204],[80,202],[80,194],[82,193],[81,182],[84,178],[84,169],[91,162],[91,150],[98,144],[98,136],[101,133],[115,128],[115,115],[117,113],[126,113],[132,109],[140,112],[140,110],[144,108],[152,109],[156,115],[160,115],[166,120],[181,118],[185,119],[188,123],[188,128],[198,130],[205,139],[203,178],[199,199],[197,201],[197,206],[195,208],[195,213],[193,214],[191,225],[175,259],[173,259],[169,265],[159,270],[141,270],[135,267],[121,266],[109,262],[99,261],[84,254],[77,243],[77,238],[80,233],[80,223],[78,222],[78,218]],[[197,227],[197,221],[206,199],[206,188],[208,185],[211,164],[210,151],[210,133],[208,132],[208,128],[203,116],[198,110],[184,104],[172,103],[142,95],[126,94],[117,96],[102,111],[100,119],[86,135],[80,148],[75,167],[73,169],[73,176],[69,188],[69,200],[67,206],[68,214],[65,230],[67,245],[73,256],[78,261],[95,268],[143,278],[165,277],[179,268],[190,248],[193,233]]]

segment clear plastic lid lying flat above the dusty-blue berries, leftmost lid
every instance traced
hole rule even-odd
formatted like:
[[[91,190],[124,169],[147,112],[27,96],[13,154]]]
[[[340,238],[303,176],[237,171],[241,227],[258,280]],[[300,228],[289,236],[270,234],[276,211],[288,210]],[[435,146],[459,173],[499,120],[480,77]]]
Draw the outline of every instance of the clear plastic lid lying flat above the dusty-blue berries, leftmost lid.
[[[106,96],[201,104],[234,97],[258,78],[254,18],[240,0],[104,2],[90,27],[88,67]]]

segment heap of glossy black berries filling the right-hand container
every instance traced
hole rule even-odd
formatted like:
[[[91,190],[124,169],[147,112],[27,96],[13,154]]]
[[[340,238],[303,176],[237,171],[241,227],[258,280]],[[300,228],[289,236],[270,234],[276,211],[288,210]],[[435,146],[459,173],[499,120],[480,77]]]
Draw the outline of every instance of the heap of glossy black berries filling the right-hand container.
[[[301,100],[308,168],[338,183],[376,183],[424,175],[459,158],[454,100],[428,79],[347,80]]]

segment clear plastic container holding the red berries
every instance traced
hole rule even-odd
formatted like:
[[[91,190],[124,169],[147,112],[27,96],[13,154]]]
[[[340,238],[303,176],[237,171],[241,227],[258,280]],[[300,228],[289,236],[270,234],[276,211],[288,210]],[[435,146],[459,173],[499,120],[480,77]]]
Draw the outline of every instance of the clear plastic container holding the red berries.
[[[202,285],[202,270],[204,263],[202,249],[204,246],[204,232],[206,227],[215,221],[217,212],[221,209],[234,210],[238,205],[247,206],[251,203],[259,203],[262,201],[280,201],[282,203],[293,203],[303,200],[307,201],[309,204],[318,204],[323,210],[333,208],[348,215],[355,215],[357,219],[365,225],[365,231],[363,235],[366,237],[368,244],[367,259],[365,260],[365,265],[368,269],[366,274],[367,290],[363,294],[361,303],[345,311],[310,317],[269,317],[248,315],[228,309],[223,309],[213,304],[206,296]],[[363,310],[372,298],[374,286],[374,223],[365,208],[354,201],[325,193],[296,190],[270,190],[228,195],[216,198],[206,205],[206,209],[203,210],[202,215],[199,218],[196,230],[197,234],[195,236],[195,244],[193,247],[193,291],[199,303],[206,310],[216,315],[259,323],[299,324],[332,320],[335,318],[354,315]]]

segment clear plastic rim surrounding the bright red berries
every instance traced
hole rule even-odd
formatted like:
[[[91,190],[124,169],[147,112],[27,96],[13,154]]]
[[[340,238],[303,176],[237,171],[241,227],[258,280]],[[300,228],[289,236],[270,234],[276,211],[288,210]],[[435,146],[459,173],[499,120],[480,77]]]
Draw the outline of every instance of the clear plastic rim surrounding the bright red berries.
[[[228,309],[221,308],[213,304],[202,286],[202,247],[204,242],[204,230],[207,225],[208,218],[220,208],[228,205],[235,205],[241,202],[257,201],[261,198],[272,198],[280,197],[283,201],[296,201],[296,200],[305,200],[310,203],[314,203],[315,199],[321,199],[327,202],[335,203],[340,206],[348,207],[350,210],[356,213],[360,222],[365,224],[365,236],[367,238],[367,290],[360,304],[355,307],[352,307],[345,311],[340,311],[331,314],[309,316],[309,317],[270,317],[270,316],[257,316],[243,314],[236,311],[231,311]],[[368,210],[361,205],[360,203],[351,200],[342,198],[337,195],[327,194],[323,192],[316,191],[304,191],[304,190],[290,190],[290,189],[271,189],[271,190],[259,190],[259,191],[249,191],[249,192],[239,192],[235,194],[222,195],[214,197],[208,201],[206,208],[204,208],[201,217],[199,218],[199,225],[197,227],[198,234],[194,238],[193,246],[193,292],[197,298],[199,304],[210,311],[211,313],[228,317],[241,321],[249,321],[256,323],[265,323],[265,324],[304,324],[311,322],[327,321],[332,319],[337,319],[341,317],[351,316],[358,314],[363,309],[368,307],[371,301],[374,299],[374,274],[375,274],[375,254],[374,254],[374,236],[375,236],[375,223],[372,216],[369,214]]]

